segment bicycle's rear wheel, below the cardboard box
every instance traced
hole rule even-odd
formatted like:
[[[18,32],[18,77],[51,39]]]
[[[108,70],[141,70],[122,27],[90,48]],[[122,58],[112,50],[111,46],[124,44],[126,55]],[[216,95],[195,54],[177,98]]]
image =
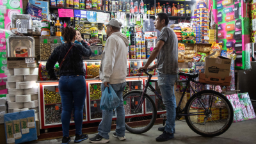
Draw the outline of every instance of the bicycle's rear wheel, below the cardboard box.
[[[221,93],[212,90],[204,90],[193,95],[187,102],[185,116],[189,127],[202,136],[219,136],[228,130],[233,122],[234,111],[229,100]]]

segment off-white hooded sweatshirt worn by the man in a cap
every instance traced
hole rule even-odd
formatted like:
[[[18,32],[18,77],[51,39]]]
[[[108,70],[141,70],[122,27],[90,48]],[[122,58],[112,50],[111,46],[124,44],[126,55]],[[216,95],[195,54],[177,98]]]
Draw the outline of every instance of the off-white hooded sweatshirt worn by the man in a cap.
[[[129,40],[120,31],[109,36],[102,54],[100,80],[110,84],[124,83],[127,75]]]

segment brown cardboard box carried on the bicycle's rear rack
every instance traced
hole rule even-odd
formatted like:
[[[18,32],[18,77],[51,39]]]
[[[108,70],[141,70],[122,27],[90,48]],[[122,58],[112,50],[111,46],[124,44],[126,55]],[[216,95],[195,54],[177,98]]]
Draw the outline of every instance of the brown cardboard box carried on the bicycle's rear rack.
[[[231,60],[222,56],[210,58],[215,52],[205,58],[205,77],[216,77],[225,79],[229,76]]]

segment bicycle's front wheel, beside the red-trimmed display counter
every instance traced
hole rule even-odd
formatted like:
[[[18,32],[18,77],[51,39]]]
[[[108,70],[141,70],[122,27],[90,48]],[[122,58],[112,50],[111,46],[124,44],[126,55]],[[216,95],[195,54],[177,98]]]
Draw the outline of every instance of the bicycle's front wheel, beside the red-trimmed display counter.
[[[123,96],[125,128],[127,131],[134,134],[147,132],[152,128],[156,121],[156,105],[154,100],[152,100],[146,93],[143,95],[143,97],[145,97],[144,102],[146,102],[145,108],[143,105],[138,108],[141,100],[141,94],[142,93],[140,91],[132,91]],[[136,111],[137,108],[138,111]]]

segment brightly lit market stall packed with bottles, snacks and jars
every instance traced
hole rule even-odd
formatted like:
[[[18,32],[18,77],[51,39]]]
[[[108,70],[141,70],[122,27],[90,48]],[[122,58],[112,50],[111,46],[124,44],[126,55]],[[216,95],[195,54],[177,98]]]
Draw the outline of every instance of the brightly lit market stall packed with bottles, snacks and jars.
[[[123,24],[120,31],[127,36],[130,42],[127,47],[125,95],[132,90],[143,90],[143,85],[147,83],[147,75],[143,73],[140,75],[138,68],[145,65],[147,58],[156,47],[159,31],[154,28],[154,19],[156,14],[161,12],[168,14],[170,19],[168,27],[173,29],[179,40],[179,47],[177,47],[179,72],[204,72],[204,62],[207,56],[210,54],[214,54],[211,58],[223,56],[232,60],[229,73],[232,78],[230,86],[216,86],[216,91],[228,91],[232,94],[239,92],[235,83],[235,69],[250,69],[250,40],[249,31],[246,29],[248,17],[245,14],[248,4],[239,0],[214,0],[207,3],[200,0],[29,0],[26,2],[20,0],[19,4],[9,4],[3,1],[0,3],[0,14],[3,16],[0,17],[0,36],[2,36],[0,77],[3,79],[0,82],[0,86],[3,87],[0,90],[0,97],[7,97],[9,108],[6,108],[5,104],[0,105],[0,108],[5,109],[4,113],[34,109],[36,119],[40,120],[40,129],[61,127],[62,108],[58,81],[51,81],[45,65],[54,48],[63,43],[61,36],[63,28],[72,26],[80,31],[92,49],[92,55],[83,58],[83,67],[86,71],[83,124],[100,122],[102,119],[100,110],[101,81],[94,77],[99,76],[102,52],[107,40],[104,24],[112,18],[119,19]],[[19,57],[24,59],[17,59]],[[12,65],[11,67],[10,61],[20,62],[24,65],[19,67]],[[156,61],[150,65],[154,65]],[[56,63],[54,69],[57,76],[59,68],[59,63]],[[153,76],[152,79],[156,80],[151,83],[152,86],[157,93],[161,94],[157,85],[157,69],[150,74]],[[182,81],[186,80],[186,77],[178,76],[178,79]],[[19,84],[28,86],[20,88]],[[198,90],[209,88],[211,86],[201,86]],[[186,91],[184,102],[186,103],[193,93],[189,88],[184,90],[184,83],[177,81],[175,95],[180,95],[179,93],[184,91]],[[155,93],[148,90],[147,94],[156,104],[157,115],[163,117],[166,113],[163,102],[156,97]],[[17,95],[27,96],[26,99],[24,98],[25,100],[22,98],[19,101]],[[232,101],[233,98],[230,97],[230,100]],[[134,96],[132,100],[138,103],[140,99],[138,96]],[[129,118],[137,114],[129,111],[131,99],[124,100],[124,107],[125,118],[129,122]],[[140,109],[140,115],[151,115],[150,109],[145,100]],[[251,115],[250,118],[253,116]],[[250,118],[244,118],[244,120]],[[115,112],[113,120],[116,120]],[[71,115],[70,125],[74,125],[74,113]]]

